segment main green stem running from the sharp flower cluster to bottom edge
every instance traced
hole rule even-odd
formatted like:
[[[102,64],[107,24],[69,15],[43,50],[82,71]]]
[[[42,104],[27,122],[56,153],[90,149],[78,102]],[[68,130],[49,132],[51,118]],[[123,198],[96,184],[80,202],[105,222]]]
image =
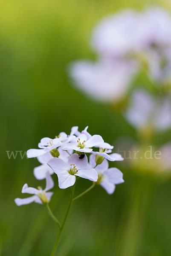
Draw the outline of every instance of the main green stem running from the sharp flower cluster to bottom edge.
[[[68,214],[70,212],[70,209],[71,209],[71,206],[72,206],[72,202],[73,202],[73,196],[74,196],[74,190],[75,190],[75,185],[72,187],[72,190],[71,190],[71,197],[70,197],[70,202],[69,202],[69,205],[68,205],[68,208],[67,208],[67,212],[65,213],[65,217],[64,217],[64,220],[62,222],[62,225],[60,227],[60,230],[59,230],[59,233],[58,233],[58,236],[57,236],[57,239],[55,241],[55,245],[53,247],[53,250],[52,250],[52,253],[51,253],[51,256],[54,256],[55,255],[55,252],[56,252],[56,249],[58,247],[58,243],[61,239],[61,234],[62,234],[62,230],[64,228],[64,225],[65,225],[65,222],[67,221],[67,217],[68,217]]]

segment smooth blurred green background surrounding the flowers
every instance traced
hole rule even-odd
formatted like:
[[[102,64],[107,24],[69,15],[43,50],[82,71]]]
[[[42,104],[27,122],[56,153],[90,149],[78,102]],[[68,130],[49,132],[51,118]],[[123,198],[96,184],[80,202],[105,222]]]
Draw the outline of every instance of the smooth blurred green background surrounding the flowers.
[[[0,255],[48,256],[57,227],[43,206],[17,207],[24,183],[37,181],[35,159],[8,159],[6,151],[37,148],[42,137],[70,133],[89,125],[113,143],[135,138],[127,122],[110,105],[93,102],[71,86],[67,64],[96,58],[88,40],[101,17],[123,8],[142,9],[151,3],[169,8],[169,1],[140,0],[9,0],[0,6]],[[171,135],[163,137],[163,142]],[[161,139],[162,140],[162,139]],[[116,166],[116,164],[111,164]],[[171,179],[139,176],[119,164],[125,183],[113,195],[101,187],[76,201],[64,229],[58,256],[171,255]],[[58,188],[50,205],[61,220],[70,190]],[[76,193],[91,183],[79,180]]]

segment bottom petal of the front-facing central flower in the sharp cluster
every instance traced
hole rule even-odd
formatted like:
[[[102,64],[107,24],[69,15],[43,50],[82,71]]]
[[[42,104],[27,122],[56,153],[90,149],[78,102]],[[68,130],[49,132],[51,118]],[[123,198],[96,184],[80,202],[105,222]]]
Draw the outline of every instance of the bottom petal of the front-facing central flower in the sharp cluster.
[[[58,182],[60,189],[67,189],[75,183],[75,175],[70,175],[68,172],[58,172]]]

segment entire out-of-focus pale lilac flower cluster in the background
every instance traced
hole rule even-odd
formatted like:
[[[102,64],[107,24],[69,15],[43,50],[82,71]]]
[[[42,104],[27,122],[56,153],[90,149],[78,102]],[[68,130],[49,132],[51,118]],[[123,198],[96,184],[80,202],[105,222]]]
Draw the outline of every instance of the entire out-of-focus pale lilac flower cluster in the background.
[[[170,13],[151,7],[105,17],[94,28],[90,44],[97,61],[73,62],[71,78],[92,98],[118,105],[141,138],[136,148],[144,151],[154,135],[171,128]],[[140,76],[145,80],[139,85]],[[169,145],[155,145],[165,159],[165,164],[158,165],[161,169],[171,169]],[[154,170],[156,163],[150,166],[145,168]]]

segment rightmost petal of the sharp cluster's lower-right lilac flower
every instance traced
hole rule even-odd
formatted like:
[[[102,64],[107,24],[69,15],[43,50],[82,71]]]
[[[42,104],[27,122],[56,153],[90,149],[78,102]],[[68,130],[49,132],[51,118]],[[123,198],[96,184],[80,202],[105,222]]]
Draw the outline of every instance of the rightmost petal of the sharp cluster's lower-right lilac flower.
[[[123,173],[118,168],[109,168],[104,172],[107,179],[113,184],[123,183]]]

